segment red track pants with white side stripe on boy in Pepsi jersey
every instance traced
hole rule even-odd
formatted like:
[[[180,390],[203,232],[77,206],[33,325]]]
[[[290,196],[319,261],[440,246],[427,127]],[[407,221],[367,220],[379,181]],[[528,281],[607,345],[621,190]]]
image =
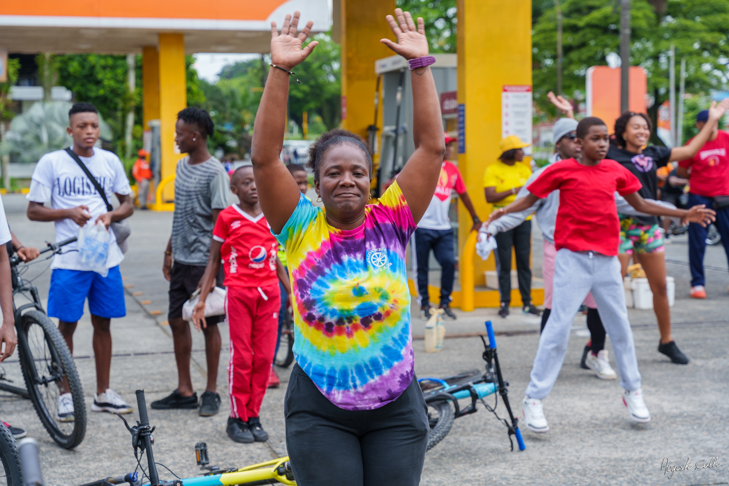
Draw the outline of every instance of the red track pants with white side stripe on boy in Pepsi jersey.
[[[266,287],[228,287],[225,301],[230,332],[228,396],[230,416],[244,422],[258,417],[268,388],[278,332],[281,291]]]

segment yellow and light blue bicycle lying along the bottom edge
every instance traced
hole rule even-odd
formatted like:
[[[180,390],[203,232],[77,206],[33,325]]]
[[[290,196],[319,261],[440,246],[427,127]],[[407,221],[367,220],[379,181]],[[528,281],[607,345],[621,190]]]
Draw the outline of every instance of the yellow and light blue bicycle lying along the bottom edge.
[[[122,415],[118,413],[115,415],[118,415],[124,421],[126,428],[132,436],[132,447],[137,468],[122,476],[98,479],[83,486],[111,486],[123,483],[128,483],[131,486],[260,486],[275,485],[278,483],[296,485],[288,457],[272,459],[264,463],[244,466],[242,468],[221,469],[218,466],[209,465],[208,449],[204,442],[195,444],[195,459],[200,469],[206,472],[202,473],[200,477],[178,477],[164,464],[155,462],[155,455],[152,452],[152,445],[155,443],[152,432],[155,431],[155,427],[149,425],[144,390],[136,391],[136,399],[137,410],[139,410],[139,421],[136,423],[136,426],[130,427]],[[20,463],[23,465],[23,476],[26,479],[25,484],[43,486],[44,482],[38,458],[38,442],[33,439],[23,439],[20,441],[18,450],[20,453]],[[147,455],[147,468],[141,466],[141,458],[138,452],[142,455]],[[157,466],[163,466],[176,479],[172,481],[160,480]]]

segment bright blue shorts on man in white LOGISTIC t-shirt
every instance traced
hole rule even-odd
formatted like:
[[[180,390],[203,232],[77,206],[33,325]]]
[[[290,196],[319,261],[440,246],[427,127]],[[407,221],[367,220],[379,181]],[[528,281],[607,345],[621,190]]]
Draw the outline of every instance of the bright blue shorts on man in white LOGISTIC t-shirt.
[[[106,278],[86,270],[53,269],[48,292],[50,317],[63,322],[78,321],[84,315],[86,297],[93,315],[109,319],[127,315],[119,265],[109,268]]]

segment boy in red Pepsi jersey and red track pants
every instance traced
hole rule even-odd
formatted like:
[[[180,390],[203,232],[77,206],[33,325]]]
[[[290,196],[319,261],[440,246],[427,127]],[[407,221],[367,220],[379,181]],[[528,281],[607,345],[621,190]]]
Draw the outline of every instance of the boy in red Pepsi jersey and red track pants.
[[[230,417],[226,432],[235,442],[265,442],[258,412],[268,387],[273,363],[281,291],[290,295],[289,277],[278,259],[278,241],[270,232],[258,203],[253,168],[239,167],[230,181],[239,204],[220,211],[213,229],[210,257],[200,281],[200,301],[195,305],[195,329],[205,326],[205,299],[215,285],[222,259],[225,270],[225,315],[230,332],[228,395]]]

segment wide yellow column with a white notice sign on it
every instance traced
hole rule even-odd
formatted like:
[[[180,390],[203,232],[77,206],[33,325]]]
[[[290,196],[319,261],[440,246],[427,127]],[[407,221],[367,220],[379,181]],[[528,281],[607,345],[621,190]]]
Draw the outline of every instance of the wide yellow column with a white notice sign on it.
[[[458,101],[464,104],[466,130],[459,168],[485,220],[491,205],[483,195],[483,173],[499,157],[503,85],[531,85],[531,0],[458,0],[457,6]],[[471,221],[463,205],[459,221]],[[461,256],[470,229],[459,225]],[[486,262],[474,259],[475,285],[485,285],[485,270],[495,270],[493,255]]]

